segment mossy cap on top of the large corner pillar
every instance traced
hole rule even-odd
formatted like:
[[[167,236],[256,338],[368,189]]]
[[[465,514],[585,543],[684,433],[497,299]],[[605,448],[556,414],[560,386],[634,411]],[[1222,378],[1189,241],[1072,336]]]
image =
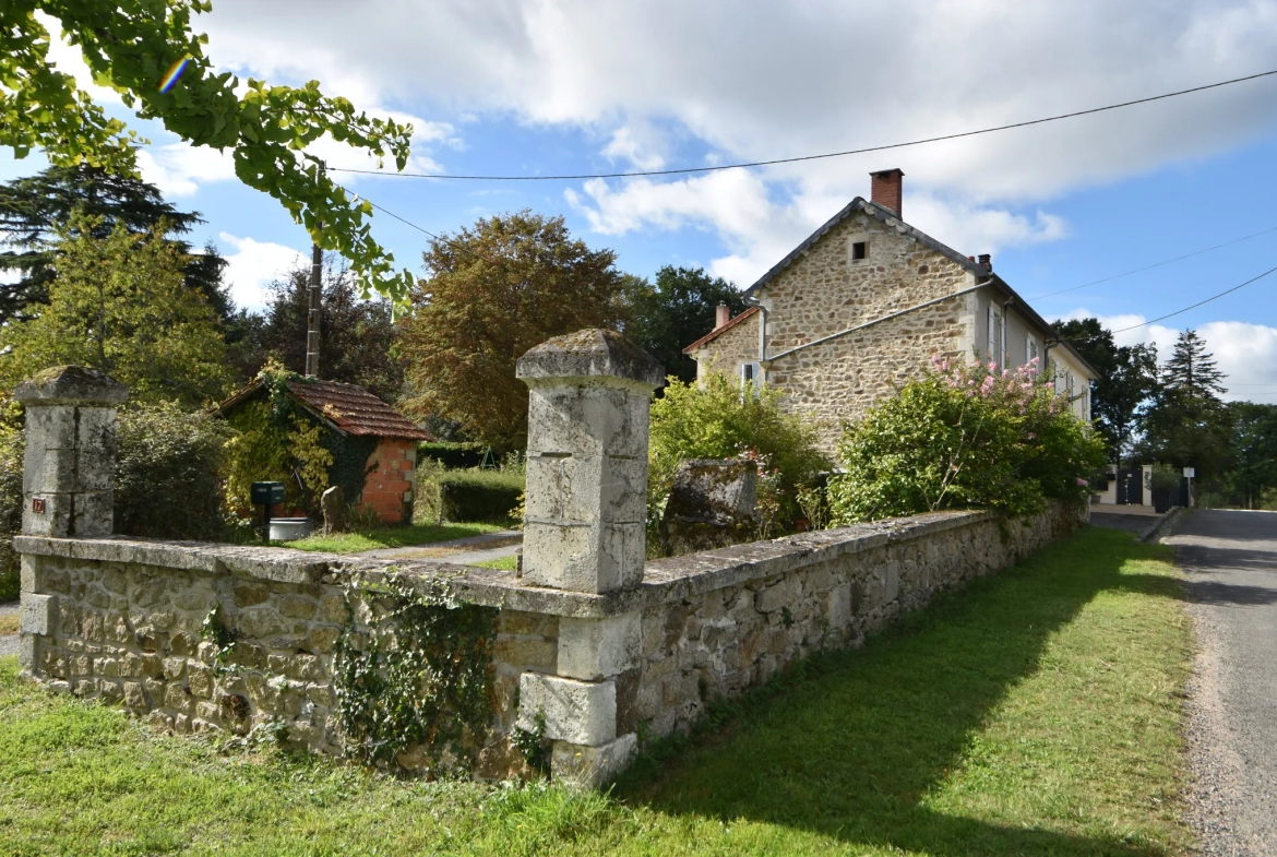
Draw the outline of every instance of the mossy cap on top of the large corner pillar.
[[[650,354],[616,331],[587,328],[555,336],[518,359],[517,378],[612,377],[658,386],[665,370]]]

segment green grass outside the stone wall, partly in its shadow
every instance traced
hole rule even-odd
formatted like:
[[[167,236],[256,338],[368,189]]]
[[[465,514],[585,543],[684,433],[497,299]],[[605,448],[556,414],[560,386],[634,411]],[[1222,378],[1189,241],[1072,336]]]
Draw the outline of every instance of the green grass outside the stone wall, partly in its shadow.
[[[1168,559],[1084,530],[812,659],[605,797],[158,736],[4,659],[0,853],[1183,853]]]

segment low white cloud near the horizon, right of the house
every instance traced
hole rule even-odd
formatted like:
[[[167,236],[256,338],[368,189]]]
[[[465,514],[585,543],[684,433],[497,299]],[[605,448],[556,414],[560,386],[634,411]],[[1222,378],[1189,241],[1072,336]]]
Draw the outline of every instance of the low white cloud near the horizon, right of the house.
[[[1114,335],[1117,345],[1152,342],[1157,346],[1161,363],[1171,355],[1180,336],[1180,331],[1172,327],[1143,326],[1144,317],[1138,314],[1097,315],[1087,309],[1075,309],[1060,318],[1089,317],[1098,318],[1110,331],[1124,331]],[[1226,375],[1226,400],[1277,404],[1277,327],[1248,322],[1207,322],[1195,330],[1205,341],[1205,350],[1214,356],[1216,365]]]

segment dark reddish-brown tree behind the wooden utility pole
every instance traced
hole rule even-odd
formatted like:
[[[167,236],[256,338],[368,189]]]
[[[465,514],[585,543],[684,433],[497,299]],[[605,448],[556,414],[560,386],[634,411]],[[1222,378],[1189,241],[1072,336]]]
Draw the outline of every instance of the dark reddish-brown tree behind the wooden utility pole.
[[[319,328],[319,377],[359,384],[388,402],[404,390],[404,363],[395,354],[397,331],[384,300],[360,300],[350,271],[324,257]],[[305,372],[310,266],[299,264],[271,284],[264,313],[240,312],[227,324],[230,359],[241,382],[257,375],[269,358]]]

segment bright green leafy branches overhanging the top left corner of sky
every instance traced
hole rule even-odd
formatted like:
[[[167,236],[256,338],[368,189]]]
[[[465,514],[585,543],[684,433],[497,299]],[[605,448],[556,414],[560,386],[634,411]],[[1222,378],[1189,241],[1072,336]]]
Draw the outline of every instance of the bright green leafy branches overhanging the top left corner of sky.
[[[5,0],[0,4],[0,146],[17,157],[43,149],[56,166],[88,162],[135,172],[137,138],[109,118],[75,78],[50,60],[50,33],[37,18],[55,19],[78,46],[100,86],[126,107],[157,119],[193,146],[229,151],[239,179],[277,199],[313,240],[351,261],[364,289],[401,299],[412,285],[369,232],[373,208],[350,198],[305,148],[323,135],[391,156],[404,169],[411,125],[373,119],[312,80],[269,86],[230,72],[217,74],[204,56],[207,38],[192,29],[207,0]],[[323,227],[321,229],[321,224]]]

